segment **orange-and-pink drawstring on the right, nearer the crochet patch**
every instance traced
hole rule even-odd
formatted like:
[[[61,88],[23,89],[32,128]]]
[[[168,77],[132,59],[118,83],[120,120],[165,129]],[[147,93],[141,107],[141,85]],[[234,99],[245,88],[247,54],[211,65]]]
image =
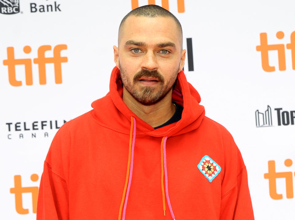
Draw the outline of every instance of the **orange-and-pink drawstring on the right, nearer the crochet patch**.
[[[168,138],[167,136],[163,137],[162,142],[161,142],[161,187],[162,187],[163,210],[164,210],[164,215],[165,215],[165,211],[166,211],[165,193],[166,193],[168,207],[169,207],[172,218],[175,220],[175,216],[172,211],[169,193],[168,193],[168,176],[167,176],[167,161],[166,161],[166,141],[167,141],[167,138]],[[164,180],[163,180],[164,175],[163,174],[165,174],[165,192],[164,192]]]

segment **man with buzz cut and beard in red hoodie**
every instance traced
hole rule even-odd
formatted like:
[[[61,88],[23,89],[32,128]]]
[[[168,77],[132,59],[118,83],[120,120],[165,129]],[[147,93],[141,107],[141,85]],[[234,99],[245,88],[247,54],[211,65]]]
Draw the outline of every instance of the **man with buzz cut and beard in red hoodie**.
[[[242,156],[205,117],[185,52],[169,11],[124,17],[110,92],[53,139],[37,219],[254,219]]]

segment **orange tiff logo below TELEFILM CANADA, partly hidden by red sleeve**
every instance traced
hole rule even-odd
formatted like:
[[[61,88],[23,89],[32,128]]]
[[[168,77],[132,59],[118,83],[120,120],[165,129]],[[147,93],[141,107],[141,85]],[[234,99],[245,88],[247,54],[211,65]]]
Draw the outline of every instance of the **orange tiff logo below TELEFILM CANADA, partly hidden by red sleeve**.
[[[37,174],[31,175],[31,180],[33,182],[38,181],[39,176]],[[14,188],[10,188],[10,193],[14,193],[15,197],[15,210],[18,214],[28,214],[29,210],[24,209],[22,206],[22,194],[23,193],[31,193],[32,194],[32,202],[33,202],[33,213],[37,212],[37,199],[38,199],[38,186],[33,187],[22,187],[22,178],[20,175],[14,176]]]

